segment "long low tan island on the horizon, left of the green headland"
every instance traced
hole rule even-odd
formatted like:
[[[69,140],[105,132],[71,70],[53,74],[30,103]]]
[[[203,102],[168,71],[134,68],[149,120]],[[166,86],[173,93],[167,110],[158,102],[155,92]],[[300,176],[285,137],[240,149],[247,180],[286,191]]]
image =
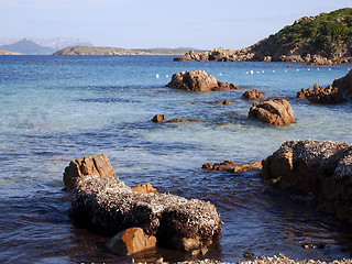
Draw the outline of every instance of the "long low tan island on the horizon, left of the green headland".
[[[120,47],[73,46],[59,50],[53,55],[184,55],[188,51],[189,48],[185,47],[125,50]]]

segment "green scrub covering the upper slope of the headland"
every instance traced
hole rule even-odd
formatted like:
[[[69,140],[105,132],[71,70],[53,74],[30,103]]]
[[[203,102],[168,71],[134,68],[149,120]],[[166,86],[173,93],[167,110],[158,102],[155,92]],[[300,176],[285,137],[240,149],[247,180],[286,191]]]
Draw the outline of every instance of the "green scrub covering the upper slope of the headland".
[[[352,9],[301,18],[285,26],[276,36],[293,46],[311,45],[331,53],[338,46],[351,44]]]

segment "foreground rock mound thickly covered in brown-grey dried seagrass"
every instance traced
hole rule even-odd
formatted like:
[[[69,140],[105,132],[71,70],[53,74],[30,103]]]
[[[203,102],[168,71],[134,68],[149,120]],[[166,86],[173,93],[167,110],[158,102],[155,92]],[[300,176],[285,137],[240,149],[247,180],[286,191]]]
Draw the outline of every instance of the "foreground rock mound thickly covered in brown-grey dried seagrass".
[[[140,194],[117,177],[79,178],[72,204],[72,218],[78,223],[112,234],[142,228],[161,245],[174,249],[180,249],[184,239],[197,238],[199,249],[206,248],[221,232],[220,216],[210,202],[169,194]]]

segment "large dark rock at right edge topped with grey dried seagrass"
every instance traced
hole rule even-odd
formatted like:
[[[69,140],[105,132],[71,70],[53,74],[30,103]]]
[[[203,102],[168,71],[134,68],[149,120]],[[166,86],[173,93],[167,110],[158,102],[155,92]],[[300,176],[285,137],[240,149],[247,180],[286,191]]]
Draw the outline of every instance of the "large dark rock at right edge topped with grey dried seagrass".
[[[352,223],[352,145],[289,141],[263,161],[263,178],[312,194],[318,209]]]

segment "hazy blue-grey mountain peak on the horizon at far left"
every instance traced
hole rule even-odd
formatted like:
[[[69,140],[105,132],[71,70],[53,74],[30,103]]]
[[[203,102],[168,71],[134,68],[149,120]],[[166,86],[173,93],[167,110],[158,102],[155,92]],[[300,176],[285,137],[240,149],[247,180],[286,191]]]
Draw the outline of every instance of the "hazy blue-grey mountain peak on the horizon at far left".
[[[0,46],[1,51],[23,53],[25,55],[48,55],[55,52],[54,48],[41,46],[33,42],[31,38],[24,38],[22,41],[15,42],[11,45]]]

